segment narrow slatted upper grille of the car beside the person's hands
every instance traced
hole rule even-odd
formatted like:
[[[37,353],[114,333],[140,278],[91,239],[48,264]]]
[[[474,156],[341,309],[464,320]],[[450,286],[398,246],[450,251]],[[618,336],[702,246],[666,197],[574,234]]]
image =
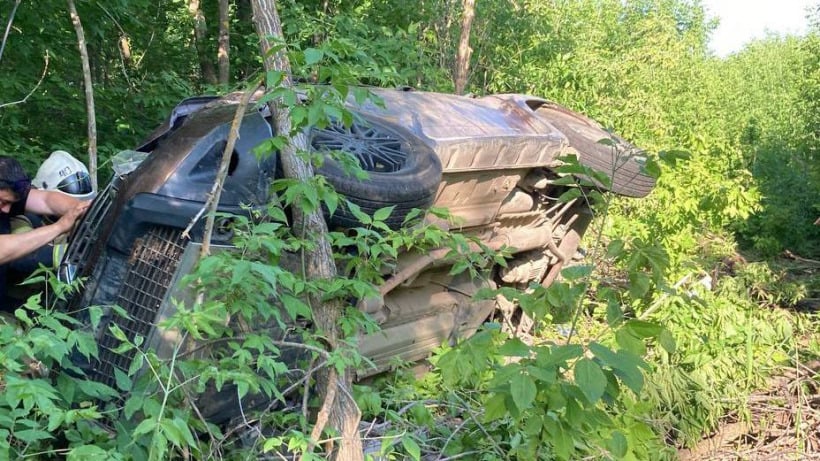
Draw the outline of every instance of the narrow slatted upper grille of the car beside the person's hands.
[[[92,258],[95,256],[91,253],[98,244],[105,223],[110,219],[108,212],[117,196],[114,182],[108,183],[108,186],[97,195],[94,203],[69,237],[69,245],[60,264],[61,273],[72,274],[66,281],[73,281],[73,274],[77,276],[88,274],[94,268]]]

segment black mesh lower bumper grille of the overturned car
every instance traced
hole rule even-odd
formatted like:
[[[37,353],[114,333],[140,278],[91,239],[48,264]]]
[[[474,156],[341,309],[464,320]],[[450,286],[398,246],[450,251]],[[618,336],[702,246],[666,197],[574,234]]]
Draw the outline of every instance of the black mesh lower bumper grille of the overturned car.
[[[184,239],[181,234],[179,229],[154,227],[134,243],[116,302],[127,317],[113,315],[110,319],[130,341],[137,336],[147,338],[154,327],[182,257]],[[114,369],[128,370],[134,351],[114,352],[119,344],[120,341],[105,328],[99,342],[99,361],[91,372],[92,379],[114,387]]]

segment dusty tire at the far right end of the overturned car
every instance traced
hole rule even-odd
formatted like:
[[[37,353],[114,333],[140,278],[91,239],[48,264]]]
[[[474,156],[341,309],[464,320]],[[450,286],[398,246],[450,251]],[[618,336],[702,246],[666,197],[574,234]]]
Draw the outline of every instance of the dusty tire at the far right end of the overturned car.
[[[595,121],[554,103],[540,106],[536,115],[552,124],[579,153],[578,161],[606,174],[612,182],[610,191],[629,197],[644,197],[655,187],[655,178],[641,168],[640,149],[604,130]],[[602,144],[602,139],[615,145]]]

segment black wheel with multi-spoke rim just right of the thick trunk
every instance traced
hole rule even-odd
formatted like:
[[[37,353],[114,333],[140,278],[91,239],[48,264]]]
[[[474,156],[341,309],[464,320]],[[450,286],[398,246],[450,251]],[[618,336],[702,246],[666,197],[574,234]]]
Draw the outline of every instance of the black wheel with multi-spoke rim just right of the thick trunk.
[[[317,173],[336,191],[361,207],[368,215],[395,206],[385,223],[401,227],[407,213],[433,204],[441,183],[441,162],[432,148],[413,135],[378,121],[356,121],[349,128],[332,124],[311,132],[311,146],[318,152],[342,151],[354,157],[368,177],[360,180],[342,167],[332,155]],[[349,210],[339,207],[329,224],[360,225]]]

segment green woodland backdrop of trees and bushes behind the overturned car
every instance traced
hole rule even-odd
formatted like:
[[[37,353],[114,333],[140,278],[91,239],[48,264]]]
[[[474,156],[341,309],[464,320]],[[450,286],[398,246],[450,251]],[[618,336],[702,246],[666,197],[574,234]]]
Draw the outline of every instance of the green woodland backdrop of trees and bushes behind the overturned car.
[[[630,450],[691,444],[742,413],[738,402],[765,380],[753,365],[771,371],[804,349],[817,356],[816,320],[783,308],[820,297],[817,267],[805,266],[820,259],[820,4],[808,35],[769,36],[726,58],[708,51],[715,24],[698,0],[277,5],[288,46],[301,51],[291,57],[296,81],[529,93],[659,160],[657,188],[614,199],[603,224],[604,240],[634,251],[622,266],[651,265],[669,280],[647,293],[629,279],[625,290],[640,292],[628,306],[635,315],[664,325],[678,344],[676,354],[649,354],[640,399],[615,405]],[[56,149],[83,160],[96,152],[104,183],[108,159],[138,145],[180,100],[245,89],[264,75],[249,0],[6,0],[0,18],[0,153],[31,173]],[[803,265],[784,269],[783,260]],[[707,277],[714,291],[702,302],[670,295]],[[494,429],[526,433],[520,421]],[[586,440],[581,432],[575,440]]]

